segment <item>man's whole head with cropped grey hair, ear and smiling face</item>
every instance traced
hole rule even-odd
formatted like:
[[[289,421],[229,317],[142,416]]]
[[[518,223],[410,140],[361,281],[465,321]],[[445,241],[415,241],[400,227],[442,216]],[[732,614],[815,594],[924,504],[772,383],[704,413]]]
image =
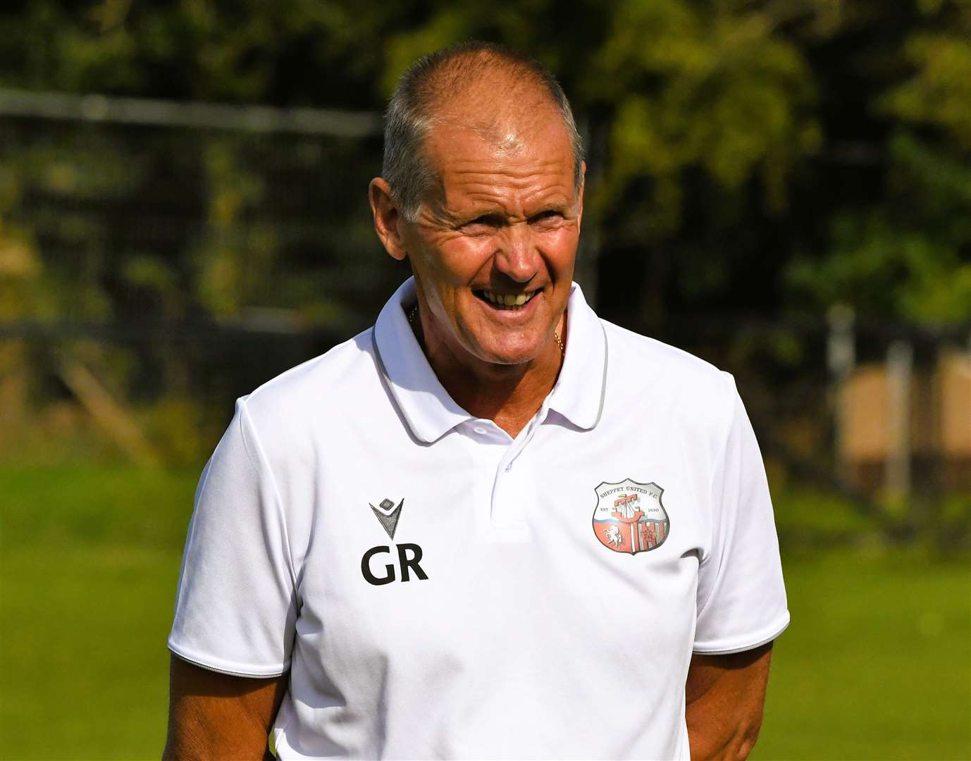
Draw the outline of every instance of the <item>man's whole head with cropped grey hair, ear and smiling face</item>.
[[[583,173],[569,104],[538,63],[473,43],[402,77],[371,203],[388,253],[411,262],[429,350],[491,364],[548,350],[573,275]]]

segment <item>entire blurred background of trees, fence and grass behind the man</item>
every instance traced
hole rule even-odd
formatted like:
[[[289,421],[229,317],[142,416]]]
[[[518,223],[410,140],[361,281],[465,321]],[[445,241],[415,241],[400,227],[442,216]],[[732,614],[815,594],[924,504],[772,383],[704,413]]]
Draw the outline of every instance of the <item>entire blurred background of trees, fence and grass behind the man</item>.
[[[971,758],[971,2],[7,0],[0,31],[0,757],[158,756],[195,480],[237,396],[408,277],[381,111],[478,38],[573,102],[588,300],[753,419],[792,612],[753,757]]]

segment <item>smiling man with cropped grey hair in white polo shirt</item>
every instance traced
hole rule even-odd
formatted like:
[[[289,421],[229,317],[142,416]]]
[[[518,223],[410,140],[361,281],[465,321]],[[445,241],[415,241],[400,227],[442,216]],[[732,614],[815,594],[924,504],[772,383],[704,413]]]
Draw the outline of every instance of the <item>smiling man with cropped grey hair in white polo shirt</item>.
[[[730,377],[586,306],[584,170],[517,53],[399,83],[370,199],[415,277],[239,401],[167,757],[747,755],[788,622],[764,471]]]

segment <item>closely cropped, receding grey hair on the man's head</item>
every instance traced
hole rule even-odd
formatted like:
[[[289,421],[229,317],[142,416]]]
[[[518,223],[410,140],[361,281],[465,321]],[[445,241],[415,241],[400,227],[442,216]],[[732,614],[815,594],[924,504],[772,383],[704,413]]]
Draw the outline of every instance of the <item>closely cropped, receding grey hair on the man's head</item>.
[[[467,42],[438,50],[417,60],[391,94],[385,111],[385,155],[382,177],[391,188],[406,220],[418,219],[421,198],[434,181],[424,154],[424,142],[435,123],[433,108],[485,69],[505,67],[519,80],[540,84],[563,118],[574,163],[574,190],[583,182],[584,143],[570,102],[552,73],[539,61],[495,43]]]

